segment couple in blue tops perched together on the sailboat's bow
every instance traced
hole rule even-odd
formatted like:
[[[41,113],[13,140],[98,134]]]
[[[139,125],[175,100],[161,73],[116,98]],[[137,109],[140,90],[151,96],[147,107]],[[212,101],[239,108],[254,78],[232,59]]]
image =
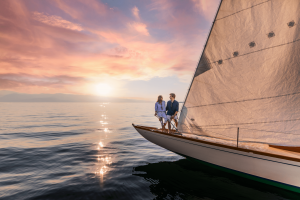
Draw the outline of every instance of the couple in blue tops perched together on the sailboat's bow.
[[[165,129],[166,123],[168,122],[168,129],[171,132],[171,121],[172,119],[175,121],[175,125],[177,128],[177,113],[179,108],[179,103],[175,100],[175,94],[170,94],[170,101],[168,101],[167,105],[165,101],[163,101],[163,97],[161,95],[158,96],[157,102],[155,103],[155,116],[159,118],[162,129]],[[166,115],[167,111],[167,115]],[[163,122],[164,119],[164,122]]]

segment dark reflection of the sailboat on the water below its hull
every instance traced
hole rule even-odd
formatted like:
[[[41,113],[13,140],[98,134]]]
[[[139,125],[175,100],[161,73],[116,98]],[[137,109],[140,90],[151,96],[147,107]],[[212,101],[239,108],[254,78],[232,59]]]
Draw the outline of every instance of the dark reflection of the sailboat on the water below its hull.
[[[135,167],[133,175],[151,183],[155,199],[299,199],[299,194],[227,174],[190,159]]]

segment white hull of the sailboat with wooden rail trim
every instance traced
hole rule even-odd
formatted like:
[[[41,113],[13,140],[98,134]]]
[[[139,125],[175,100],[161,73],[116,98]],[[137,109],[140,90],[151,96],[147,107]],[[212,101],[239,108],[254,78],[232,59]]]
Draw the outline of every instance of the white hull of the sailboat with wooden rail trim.
[[[253,180],[300,192],[300,162],[297,161],[299,159],[286,159],[284,156],[214,145],[145,127],[134,127],[150,142],[175,153]]]

